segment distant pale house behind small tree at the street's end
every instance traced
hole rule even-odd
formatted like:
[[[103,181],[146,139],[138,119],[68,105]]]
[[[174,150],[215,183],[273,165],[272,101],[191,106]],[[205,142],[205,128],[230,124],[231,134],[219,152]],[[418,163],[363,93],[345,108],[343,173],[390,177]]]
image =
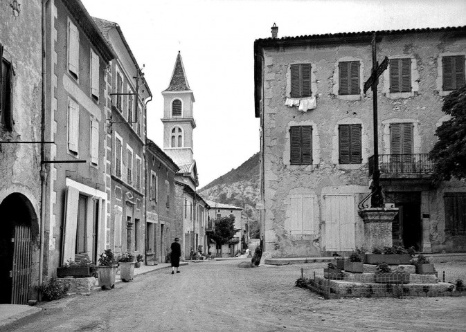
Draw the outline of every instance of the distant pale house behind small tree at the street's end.
[[[208,237],[206,246],[208,250],[213,254],[219,255],[222,253],[222,257],[235,257],[235,255],[242,249],[242,241],[245,239],[244,235],[244,228],[242,228],[242,208],[238,208],[238,206],[228,205],[223,203],[217,203],[215,201],[208,201],[206,203],[210,206],[210,210],[208,210],[208,232],[213,231],[215,229],[215,221],[219,220],[220,218],[224,218],[226,216],[234,216],[235,217],[235,228],[238,230],[235,236],[231,241],[222,245],[222,248],[217,246],[215,242],[210,240]],[[246,243],[247,244],[247,243]],[[210,248],[209,248],[210,247]]]

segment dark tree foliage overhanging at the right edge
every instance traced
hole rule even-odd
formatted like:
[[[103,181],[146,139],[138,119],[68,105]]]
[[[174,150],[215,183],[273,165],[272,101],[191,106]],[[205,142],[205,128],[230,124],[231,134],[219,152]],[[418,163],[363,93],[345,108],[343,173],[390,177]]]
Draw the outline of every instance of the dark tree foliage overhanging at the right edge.
[[[436,131],[438,141],[430,155],[434,178],[437,181],[448,181],[452,176],[466,178],[466,86],[445,97],[442,111],[451,119]]]

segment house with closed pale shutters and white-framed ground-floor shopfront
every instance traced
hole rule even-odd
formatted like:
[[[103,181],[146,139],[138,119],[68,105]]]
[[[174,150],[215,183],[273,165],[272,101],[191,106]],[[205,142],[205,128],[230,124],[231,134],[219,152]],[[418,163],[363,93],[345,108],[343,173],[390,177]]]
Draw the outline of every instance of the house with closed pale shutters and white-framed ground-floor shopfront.
[[[80,1],[46,2],[47,166],[44,275],[67,260],[96,261],[107,241],[109,114],[114,51]]]

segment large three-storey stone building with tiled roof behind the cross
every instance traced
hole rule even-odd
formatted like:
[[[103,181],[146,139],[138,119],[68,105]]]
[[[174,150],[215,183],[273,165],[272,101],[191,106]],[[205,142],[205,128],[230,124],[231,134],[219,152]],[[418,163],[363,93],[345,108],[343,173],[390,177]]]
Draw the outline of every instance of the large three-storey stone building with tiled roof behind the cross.
[[[465,82],[466,27],[379,31],[379,165],[399,208],[393,241],[466,251],[466,183],[432,183],[429,151],[448,117],[442,97]],[[364,244],[358,204],[370,192],[373,33],[258,39],[261,239],[266,256],[348,252]],[[462,210],[463,209],[463,210]],[[462,213],[463,211],[463,213]]]

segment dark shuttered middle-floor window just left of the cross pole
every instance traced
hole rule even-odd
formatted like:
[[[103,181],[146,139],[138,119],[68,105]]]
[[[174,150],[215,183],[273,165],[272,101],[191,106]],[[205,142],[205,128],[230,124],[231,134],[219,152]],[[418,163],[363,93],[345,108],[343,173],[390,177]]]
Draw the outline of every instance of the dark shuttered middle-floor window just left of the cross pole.
[[[362,163],[361,124],[340,124],[339,163]]]

